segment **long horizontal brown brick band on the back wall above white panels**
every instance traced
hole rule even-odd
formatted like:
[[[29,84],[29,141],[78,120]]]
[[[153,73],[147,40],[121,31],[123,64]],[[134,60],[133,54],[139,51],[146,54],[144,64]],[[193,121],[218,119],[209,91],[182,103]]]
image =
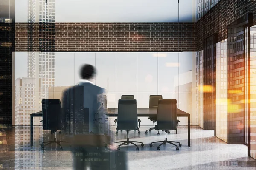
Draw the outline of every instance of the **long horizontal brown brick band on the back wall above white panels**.
[[[45,31],[39,29],[39,23],[33,27],[29,30],[29,23],[15,23],[15,51],[44,51],[39,46],[47,34],[54,48],[45,48],[55,52],[197,49],[196,23],[55,23],[54,34],[39,34]]]

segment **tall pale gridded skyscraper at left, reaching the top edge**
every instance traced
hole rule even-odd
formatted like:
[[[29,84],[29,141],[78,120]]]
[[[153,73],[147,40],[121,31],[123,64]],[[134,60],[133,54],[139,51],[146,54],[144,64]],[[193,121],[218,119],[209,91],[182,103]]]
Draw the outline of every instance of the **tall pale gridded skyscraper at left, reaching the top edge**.
[[[29,0],[28,22],[30,24],[39,23],[54,23],[55,22],[55,0]],[[33,28],[33,25],[30,25]],[[33,34],[33,29],[29,29]],[[49,30],[48,30],[49,31]],[[44,31],[41,31],[44,32]],[[45,39],[47,35],[40,36],[41,48],[47,45],[48,40]],[[33,41],[31,41],[33,43]],[[44,49],[43,51],[47,51]],[[36,97],[35,102],[40,103],[36,105],[35,111],[41,111],[41,101],[46,99],[46,91],[48,87],[54,86],[54,68],[55,56],[54,52],[29,52],[28,53],[28,77],[33,78],[35,84]]]

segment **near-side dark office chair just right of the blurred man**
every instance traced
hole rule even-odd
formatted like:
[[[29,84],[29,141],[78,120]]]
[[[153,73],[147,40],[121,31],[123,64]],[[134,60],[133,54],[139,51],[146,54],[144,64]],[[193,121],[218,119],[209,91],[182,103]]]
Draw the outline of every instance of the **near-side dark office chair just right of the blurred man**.
[[[137,147],[136,150],[139,150],[139,147],[136,144],[134,144],[134,142],[141,143],[141,146],[144,146],[142,142],[129,140],[129,131],[137,129],[137,121],[139,122],[140,127],[140,119],[138,120],[137,113],[137,101],[135,99],[119,99],[117,120],[115,120],[115,122],[117,122],[117,129],[126,130],[127,141],[115,142],[122,143],[117,147],[118,150],[120,150],[120,146],[130,143]]]

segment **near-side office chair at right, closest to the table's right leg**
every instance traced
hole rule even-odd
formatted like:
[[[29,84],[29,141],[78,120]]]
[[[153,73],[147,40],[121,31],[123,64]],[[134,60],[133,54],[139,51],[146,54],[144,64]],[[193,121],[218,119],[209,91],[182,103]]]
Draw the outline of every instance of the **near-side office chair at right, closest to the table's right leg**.
[[[177,100],[160,99],[158,101],[157,108],[157,125],[155,125],[156,129],[164,130],[167,134],[168,130],[176,130],[177,126]],[[164,141],[152,142],[149,146],[153,146],[153,143],[159,142],[161,142],[161,144],[157,147],[157,150],[160,150],[160,146],[166,143],[175,145],[176,150],[179,150],[179,147],[174,143],[178,143],[180,147],[182,146],[180,142],[168,141],[167,136]]]

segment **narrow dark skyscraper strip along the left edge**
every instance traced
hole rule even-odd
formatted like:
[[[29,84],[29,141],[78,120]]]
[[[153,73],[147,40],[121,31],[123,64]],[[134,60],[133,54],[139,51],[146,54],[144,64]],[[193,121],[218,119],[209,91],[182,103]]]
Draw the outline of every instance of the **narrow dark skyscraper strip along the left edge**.
[[[0,124],[12,124],[12,52],[15,49],[15,0],[0,0]]]

